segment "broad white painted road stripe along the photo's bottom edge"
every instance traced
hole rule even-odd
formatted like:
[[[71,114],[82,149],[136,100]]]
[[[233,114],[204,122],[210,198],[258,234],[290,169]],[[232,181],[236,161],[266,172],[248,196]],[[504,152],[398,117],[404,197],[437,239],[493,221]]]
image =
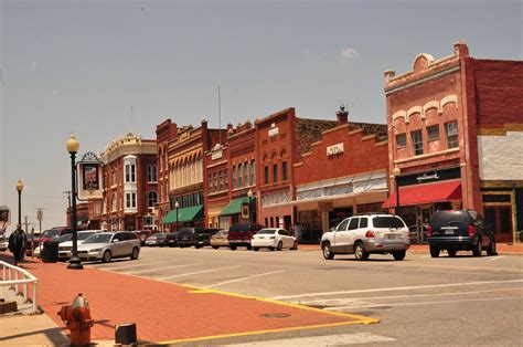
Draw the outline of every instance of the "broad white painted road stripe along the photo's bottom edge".
[[[344,346],[344,345],[360,345],[360,344],[373,344],[373,343],[387,343],[395,341],[395,338],[374,335],[370,333],[359,334],[344,334],[344,335],[328,335],[328,336],[311,336],[311,337],[298,337],[289,339],[276,339],[268,341],[258,343],[246,343],[235,344],[226,346],[296,346],[296,347],[316,347],[316,346]]]

